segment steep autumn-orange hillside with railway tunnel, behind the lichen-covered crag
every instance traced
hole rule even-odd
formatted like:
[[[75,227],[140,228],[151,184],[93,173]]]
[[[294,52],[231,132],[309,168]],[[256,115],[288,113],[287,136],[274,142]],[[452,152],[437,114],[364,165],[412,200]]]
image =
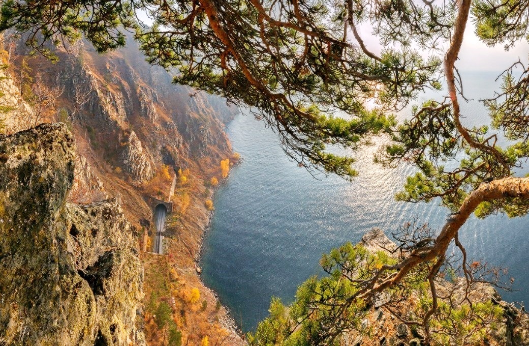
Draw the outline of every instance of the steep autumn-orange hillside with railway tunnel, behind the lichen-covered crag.
[[[65,122],[77,152],[68,200],[120,200],[124,216],[138,230],[133,242],[145,276],[137,327],[148,344],[241,344],[226,309],[195,269],[211,212],[205,202],[216,185],[211,179],[222,179],[221,160],[236,162],[223,131],[223,121],[236,110],[221,99],[172,84],[164,69],[145,63],[134,42],[104,56],[82,43],[69,54],[56,52],[60,60],[52,64],[28,57],[23,45],[17,47],[16,58],[0,78],[8,91],[0,99],[11,100],[16,109],[0,115],[6,132]],[[39,83],[58,91],[51,111],[41,117],[22,113],[22,106],[35,102],[32,87]],[[149,198],[167,199],[175,176],[166,255],[154,255]]]

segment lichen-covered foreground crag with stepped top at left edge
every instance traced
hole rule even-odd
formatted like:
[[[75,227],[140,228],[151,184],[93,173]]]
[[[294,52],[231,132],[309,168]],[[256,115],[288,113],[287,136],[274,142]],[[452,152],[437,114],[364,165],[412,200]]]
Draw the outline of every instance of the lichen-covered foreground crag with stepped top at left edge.
[[[77,206],[65,125],[0,137],[0,343],[143,344],[143,270],[116,200]]]

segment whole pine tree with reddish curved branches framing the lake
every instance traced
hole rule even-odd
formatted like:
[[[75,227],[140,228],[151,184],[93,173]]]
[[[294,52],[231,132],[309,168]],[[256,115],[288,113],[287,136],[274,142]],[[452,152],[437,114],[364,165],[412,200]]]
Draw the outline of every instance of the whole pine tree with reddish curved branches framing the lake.
[[[506,64],[501,91],[484,101],[491,127],[469,128],[461,122],[464,96],[455,68],[469,24],[489,46],[526,39],[527,0],[7,0],[1,11],[0,29],[25,33],[29,46],[51,58],[47,40],[67,47],[84,34],[105,52],[124,45],[125,30],[134,31],[150,63],[177,68],[176,83],[249,107],[308,170],[352,178],[354,154],[329,148],[354,153],[375,136],[389,136],[377,161],[417,168],[397,198],[440,200],[452,211],[439,232],[406,227],[398,260],[352,246],[324,257],[331,281],[302,286],[289,313],[274,301],[253,343],[336,343],[381,292],[414,285],[426,285],[427,299],[423,313],[406,322],[424,330],[425,342],[441,342],[434,334],[442,320],[434,317],[452,312],[444,310],[435,280],[450,267],[449,245],[461,251],[468,289],[496,282],[499,273],[467,261],[461,226],[472,213],[529,211],[529,178],[515,174],[529,156],[529,69]],[[138,19],[145,14],[149,25]],[[359,25],[372,26],[386,47],[380,54],[364,45]],[[432,56],[425,58],[425,51]],[[445,97],[417,104],[427,88]],[[410,116],[397,121],[393,114],[409,105]],[[500,146],[498,136],[508,144]],[[468,306],[470,314],[495,314]]]

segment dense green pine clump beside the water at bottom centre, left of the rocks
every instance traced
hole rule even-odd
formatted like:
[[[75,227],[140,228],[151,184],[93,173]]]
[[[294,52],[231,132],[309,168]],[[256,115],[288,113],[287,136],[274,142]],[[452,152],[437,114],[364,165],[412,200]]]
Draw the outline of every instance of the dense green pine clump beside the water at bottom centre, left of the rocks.
[[[312,277],[298,287],[288,308],[273,298],[270,315],[248,335],[250,345],[340,344],[344,331],[360,330],[369,304],[356,298],[362,279],[382,266],[394,263],[385,252],[370,253],[361,245],[347,243],[323,255],[322,268],[329,273]]]

